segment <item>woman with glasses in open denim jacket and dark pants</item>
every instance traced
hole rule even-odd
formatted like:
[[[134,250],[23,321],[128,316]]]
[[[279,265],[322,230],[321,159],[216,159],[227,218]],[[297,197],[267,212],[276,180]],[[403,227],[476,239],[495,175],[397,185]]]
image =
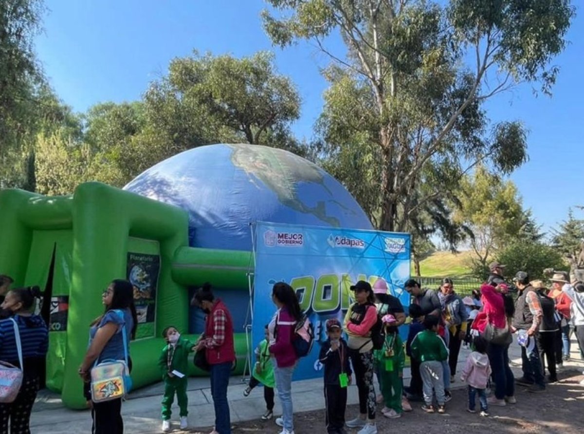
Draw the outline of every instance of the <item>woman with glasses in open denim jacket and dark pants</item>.
[[[448,277],[442,280],[438,293],[440,304],[442,305],[442,315],[444,318],[444,331],[448,334],[448,348],[450,366],[450,381],[454,381],[456,374],[456,364],[458,363],[458,353],[460,344],[464,342],[467,334],[468,313],[464,306],[463,299],[454,292],[454,283]]]

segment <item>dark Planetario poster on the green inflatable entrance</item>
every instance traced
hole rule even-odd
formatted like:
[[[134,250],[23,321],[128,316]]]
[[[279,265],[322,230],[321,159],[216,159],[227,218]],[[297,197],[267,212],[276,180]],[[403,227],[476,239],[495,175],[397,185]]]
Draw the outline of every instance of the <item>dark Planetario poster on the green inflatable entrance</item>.
[[[127,279],[134,286],[138,324],[154,322],[160,257],[128,252]]]

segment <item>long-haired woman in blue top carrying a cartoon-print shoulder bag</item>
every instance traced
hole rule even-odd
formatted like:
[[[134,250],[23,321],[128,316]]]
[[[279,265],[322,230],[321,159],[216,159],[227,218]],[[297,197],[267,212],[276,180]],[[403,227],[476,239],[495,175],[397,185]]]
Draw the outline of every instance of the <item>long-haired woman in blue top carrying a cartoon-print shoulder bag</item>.
[[[138,325],[136,308],[134,306],[134,288],[127,280],[114,280],[107,290],[103,291],[102,301],[105,305],[103,315],[91,323],[89,349],[85,353],[83,363],[79,367],[79,376],[89,383],[89,371],[93,364],[103,360],[124,360],[125,351],[128,352],[128,364],[132,369],[130,359],[130,339],[135,338]],[[121,311],[123,315],[119,315]],[[124,350],[122,329],[126,329],[127,348]],[[85,397],[89,387],[85,387]],[[112,401],[92,404],[93,418],[92,433],[94,434],[122,434],[124,423],[121,419],[121,398]]]

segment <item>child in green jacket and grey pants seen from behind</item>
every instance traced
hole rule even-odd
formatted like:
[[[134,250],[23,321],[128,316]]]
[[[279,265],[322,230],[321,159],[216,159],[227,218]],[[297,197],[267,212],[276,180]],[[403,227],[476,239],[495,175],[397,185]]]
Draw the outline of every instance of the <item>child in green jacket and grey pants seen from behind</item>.
[[[423,395],[425,404],[423,411],[434,412],[433,398],[436,393],[438,412],[446,412],[444,407],[444,371],[443,360],[448,360],[448,349],[444,341],[438,336],[439,319],[435,315],[427,315],[424,318],[425,330],[419,332],[413,338],[411,345],[412,357],[416,357],[420,364],[420,374],[423,383]]]

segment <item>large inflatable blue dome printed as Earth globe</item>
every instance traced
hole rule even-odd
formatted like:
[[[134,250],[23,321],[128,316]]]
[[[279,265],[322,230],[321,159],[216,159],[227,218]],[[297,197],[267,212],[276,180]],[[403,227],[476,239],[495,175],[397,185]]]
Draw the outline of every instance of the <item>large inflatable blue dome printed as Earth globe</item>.
[[[335,178],[307,159],[261,145],[193,148],[124,190],[185,209],[194,247],[250,251],[255,221],[372,229]]]

